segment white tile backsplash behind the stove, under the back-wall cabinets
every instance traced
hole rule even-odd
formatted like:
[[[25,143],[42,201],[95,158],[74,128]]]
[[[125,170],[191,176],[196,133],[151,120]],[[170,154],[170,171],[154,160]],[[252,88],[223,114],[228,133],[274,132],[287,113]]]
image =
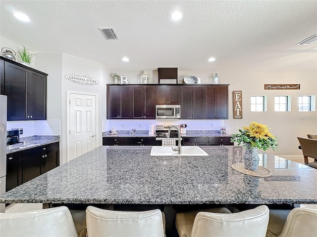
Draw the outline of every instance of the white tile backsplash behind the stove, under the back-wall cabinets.
[[[103,119],[103,132],[115,128],[117,131],[129,131],[132,128],[138,131],[148,131],[150,123],[154,125],[180,125],[187,124],[187,132],[193,131],[218,131],[224,126],[224,120],[183,120],[183,119]]]

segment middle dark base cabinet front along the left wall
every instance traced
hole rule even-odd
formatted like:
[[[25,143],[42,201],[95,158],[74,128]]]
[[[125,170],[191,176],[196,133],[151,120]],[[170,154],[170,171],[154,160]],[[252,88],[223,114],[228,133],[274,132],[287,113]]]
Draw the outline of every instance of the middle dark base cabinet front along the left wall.
[[[22,183],[39,175],[41,175],[41,155],[39,149],[25,150],[22,159]]]

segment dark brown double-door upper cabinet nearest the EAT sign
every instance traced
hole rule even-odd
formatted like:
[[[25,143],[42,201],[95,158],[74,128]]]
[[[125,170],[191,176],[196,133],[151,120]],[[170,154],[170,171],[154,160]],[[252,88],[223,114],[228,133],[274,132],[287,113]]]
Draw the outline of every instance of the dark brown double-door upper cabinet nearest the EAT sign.
[[[228,86],[205,86],[205,119],[228,119]]]

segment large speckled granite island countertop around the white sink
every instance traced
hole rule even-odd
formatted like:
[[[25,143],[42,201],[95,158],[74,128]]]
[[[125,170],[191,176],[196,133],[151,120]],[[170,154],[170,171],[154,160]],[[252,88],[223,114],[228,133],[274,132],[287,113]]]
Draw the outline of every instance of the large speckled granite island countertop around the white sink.
[[[310,203],[317,170],[261,154],[270,177],[231,168],[241,146],[204,146],[209,156],[153,157],[151,146],[100,146],[0,196],[0,202],[43,203]]]

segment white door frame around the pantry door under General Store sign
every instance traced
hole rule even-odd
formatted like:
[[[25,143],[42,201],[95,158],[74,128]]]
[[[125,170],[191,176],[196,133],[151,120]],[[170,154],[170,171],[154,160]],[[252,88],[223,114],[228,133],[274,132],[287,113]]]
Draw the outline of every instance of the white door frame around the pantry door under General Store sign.
[[[95,96],[96,101],[96,148],[99,147],[99,124],[98,124],[98,118],[99,118],[99,100],[98,100],[98,94],[97,93],[90,93],[90,92],[83,92],[83,91],[72,91],[67,90],[67,162],[70,161],[70,95],[71,94],[77,94],[77,95],[91,95]]]

